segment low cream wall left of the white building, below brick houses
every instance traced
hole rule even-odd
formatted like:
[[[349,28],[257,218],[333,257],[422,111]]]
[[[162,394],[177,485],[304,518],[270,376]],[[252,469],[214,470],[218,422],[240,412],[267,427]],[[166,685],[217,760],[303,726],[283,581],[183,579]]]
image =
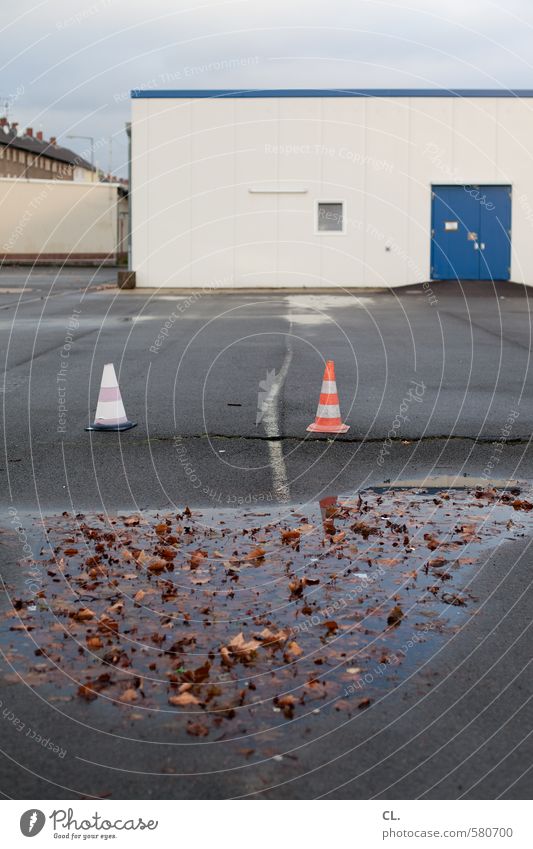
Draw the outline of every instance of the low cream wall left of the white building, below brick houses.
[[[0,255],[7,261],[97,259],[116,250],[112,184],[0,179],[0,209]]]

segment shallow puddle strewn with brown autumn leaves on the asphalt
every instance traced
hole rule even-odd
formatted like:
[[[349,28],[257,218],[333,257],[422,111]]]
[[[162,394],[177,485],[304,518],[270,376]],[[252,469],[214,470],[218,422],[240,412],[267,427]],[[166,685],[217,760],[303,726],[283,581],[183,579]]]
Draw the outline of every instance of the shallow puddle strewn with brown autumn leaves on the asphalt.
[[[486,555],[532,530],[527,494],[437,480],[291,510],[34,522],[31,560],[6,549],[8,680],[115,728],[157,715],[175,740],[272,741],[292,718],[352,716],[429,675],[476,612]]]

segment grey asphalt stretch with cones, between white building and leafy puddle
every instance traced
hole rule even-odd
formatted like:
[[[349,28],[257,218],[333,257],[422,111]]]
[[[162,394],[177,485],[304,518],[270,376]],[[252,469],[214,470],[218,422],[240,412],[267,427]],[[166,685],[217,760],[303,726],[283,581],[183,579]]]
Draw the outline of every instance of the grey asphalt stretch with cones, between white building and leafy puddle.
[[[110,273],[99,272],[100,285]],[[495,476],[533,477],[522,287],[439,284],[431,305],[422,287],[337,297],[86,292],[81,270],[56,292],[54,274],[51,297],[46,284],[39,300],[21,294],[20,306],[0,296],[2,474],[19,508],[231,505],[269,493],[296,502],[433,468],[479,474],[509,416]],[[23,279],[4,273],[6,287]],[[350,425],[334,442],[306,432],[326,359]],[[107,362],[138,426],[88,435]],[[274,396],[256,424],[269,375]]]

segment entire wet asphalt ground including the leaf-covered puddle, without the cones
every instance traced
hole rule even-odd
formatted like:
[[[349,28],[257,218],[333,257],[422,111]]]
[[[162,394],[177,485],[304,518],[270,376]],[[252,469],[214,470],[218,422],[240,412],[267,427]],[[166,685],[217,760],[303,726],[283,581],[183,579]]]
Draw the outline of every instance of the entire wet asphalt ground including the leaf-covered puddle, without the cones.
[[[528,798],[528,291],[94,271],[0,275],[10,795]]]

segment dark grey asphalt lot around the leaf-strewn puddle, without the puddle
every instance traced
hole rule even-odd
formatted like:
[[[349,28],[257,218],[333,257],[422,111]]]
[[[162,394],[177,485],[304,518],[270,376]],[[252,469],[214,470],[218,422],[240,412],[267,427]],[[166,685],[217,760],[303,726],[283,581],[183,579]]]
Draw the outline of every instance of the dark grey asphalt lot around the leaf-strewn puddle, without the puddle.
[[[65,509],[300,504],[428,474],[489,469],[498,479],[533,479],[531,296],[523,287],[439,283],[431,303],[421,286],[222,295],[120,292],[107,288],[113,279],[106,269],[0,276],[5,523],[10,507],[24,524]],[[335,440],[306,432],[326,359],[335,361],[350,425]],[[86,433],[108,362],[138,425]],[[298,751],[281,762],[236,767],[231,754],[219,762],[209,746],[176,749],[169,729],[158,745],[143,743],[146,732],[133,724],[133,739],[110,737],[98,705],[76,705],[66,722],[57,706],[8,681],[4,705],[68,753],[51,758],[0,723],[3,792],[527,798],[529,543],[506,543],[482,564],[480,612],[430,671],[354,722],[320,718],[308,745],[296,729]],[[3,562],[16,581],[9,551]]]

